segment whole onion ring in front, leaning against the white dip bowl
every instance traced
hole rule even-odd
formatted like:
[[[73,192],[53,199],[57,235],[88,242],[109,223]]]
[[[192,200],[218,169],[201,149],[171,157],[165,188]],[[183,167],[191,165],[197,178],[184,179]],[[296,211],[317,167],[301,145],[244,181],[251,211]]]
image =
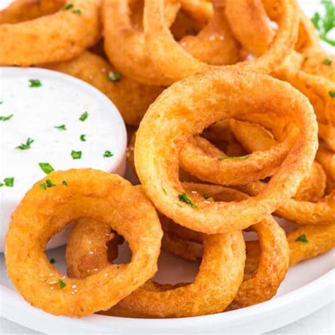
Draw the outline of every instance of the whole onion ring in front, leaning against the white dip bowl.
[[[42,189],[47,180],[55,186]],[[110,264],[81,279],[66,278],[54,269],[44,252],[47,241],[83,217],[105,222],[124,235],[133,253],[127,266]],[[6,268],[35,307],[54,315],[90,315],[112,307],[155,274],[161,237],[155,208],[141,189],[122,177],[88,169],[52,172],[25,194],[11,217]]]

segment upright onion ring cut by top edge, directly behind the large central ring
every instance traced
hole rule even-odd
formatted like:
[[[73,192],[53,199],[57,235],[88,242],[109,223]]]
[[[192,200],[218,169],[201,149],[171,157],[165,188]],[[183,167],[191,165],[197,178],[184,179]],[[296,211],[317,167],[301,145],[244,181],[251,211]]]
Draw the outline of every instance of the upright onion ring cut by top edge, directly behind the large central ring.
[[[278,33],[265,54],[252,61],[242,61],[230,66],[214,66],[195,59],[174,40],[165,23],[164,0],[146,0],[143,22],[148,52],[157,68],[170,78],[170,83],[198,72],[222,67],[269,73],[290,53],[298,37],[298,12],[295,2],[279,2],[282,11],[278,18]],[[218,15],[224,16],[225,1],[214,0],[213,4]]]

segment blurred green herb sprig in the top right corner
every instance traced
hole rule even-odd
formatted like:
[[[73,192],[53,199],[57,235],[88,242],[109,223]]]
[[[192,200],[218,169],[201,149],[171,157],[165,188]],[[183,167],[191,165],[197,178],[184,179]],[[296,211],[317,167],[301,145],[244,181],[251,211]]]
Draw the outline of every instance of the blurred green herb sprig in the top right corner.
[[[317,32],[319,33],[319,37],[324,42],[329,43],[329,45],[335,46],[335,40],[331,40],[328,37],[328,33],[335,27],[335,20],[334,20],[334,12],[335,12],[335,5],[332,1],[329,0],[321,0],[322,5],[324,5],[325,13],[322,16],[320,13],[315,13],[312,17],[312,23],[314,24]]]

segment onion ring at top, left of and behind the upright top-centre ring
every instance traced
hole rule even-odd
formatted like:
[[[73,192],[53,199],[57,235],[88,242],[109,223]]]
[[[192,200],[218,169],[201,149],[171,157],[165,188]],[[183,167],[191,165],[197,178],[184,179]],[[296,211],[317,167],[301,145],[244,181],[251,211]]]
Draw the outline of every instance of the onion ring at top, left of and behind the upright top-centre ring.
[[[185,2],[187,8],[190,8],[188,1]],[[129,0],[105,0],[103,3],[102,20],[106,35],[105,51],[107,56],[117,69],[135,78],[137,81],[153,85],[169,86],[171,83],[170,79],[165,76],[163,71],[158,69],[155,61],[152,61],[148,54],[141,18],[138,20],[138,25],[134,25],[134,23],[131,22],[130,4],[131,1]],[[137,11],[139,11],[141,7],[143,8],[143,1],[137,0],[136,4]],[[169,27],[174,22],[175,16],[182,5],[183,1],[166,1],[163,11],[163,20]],[[195,3],[194,6],[196,6]],[[224,23],[222,23],[222,25],[224,25]],[[225,33],[228,34],[227,31],[225,31]],[[188,47],[191,49],[191,52],[196,52],[197,54],[201,54],[202,52],[203,57],[205,57],[202,47],[204,42],[198,39],[194,40],[192,37],[190,37],[189,40],[181,40],[180,45]],[[196,42],[198,42],[197,45],[194,45]],[[223,43],[225,46],[225,48],[221,49],[218,49],[214,42],[216,41],[210,43],[211,45],[215,45],[215,51],[213,52],[222,54],[223,57],[228,54],[227,57],[233,56],[234,59],[236,59],[235,55],[239,52],[235,40],[227,36],[227,39],[221,41],[221,45]],[[208,43],[206,47],[208,47]]]

